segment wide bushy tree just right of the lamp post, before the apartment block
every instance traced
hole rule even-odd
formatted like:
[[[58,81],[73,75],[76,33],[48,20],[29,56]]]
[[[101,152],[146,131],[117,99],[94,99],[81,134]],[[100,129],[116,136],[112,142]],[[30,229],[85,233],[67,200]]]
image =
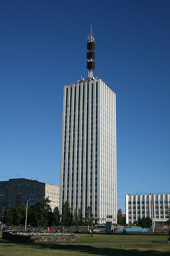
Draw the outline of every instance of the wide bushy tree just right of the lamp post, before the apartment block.
[[[45,198],[37,204],[28,207],[28,224],[33,227],[48,227],[51,207],[50,200]]]

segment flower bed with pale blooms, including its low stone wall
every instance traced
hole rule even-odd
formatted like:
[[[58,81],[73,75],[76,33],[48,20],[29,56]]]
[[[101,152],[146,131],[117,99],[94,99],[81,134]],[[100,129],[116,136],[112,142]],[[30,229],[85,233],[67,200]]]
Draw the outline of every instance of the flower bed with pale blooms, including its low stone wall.
[[[23,232],[23,231],[3,231],[3,239],[26,242],[78,242],[79,237],[72,233],[54,232]]]

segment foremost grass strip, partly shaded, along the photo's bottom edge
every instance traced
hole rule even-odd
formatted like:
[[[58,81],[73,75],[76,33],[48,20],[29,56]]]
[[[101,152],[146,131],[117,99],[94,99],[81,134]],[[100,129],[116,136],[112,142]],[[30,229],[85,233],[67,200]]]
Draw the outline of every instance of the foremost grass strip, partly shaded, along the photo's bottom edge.
[[[2,245],[0,256],[169,256],[169,244],[148,245]]]

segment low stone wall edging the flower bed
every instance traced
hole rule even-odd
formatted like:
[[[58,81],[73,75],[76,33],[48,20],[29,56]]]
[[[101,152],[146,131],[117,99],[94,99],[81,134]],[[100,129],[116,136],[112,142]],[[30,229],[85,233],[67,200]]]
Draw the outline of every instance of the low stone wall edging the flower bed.
[[[79,242],[79,236],[24,236],[17,235],[10,231],[3,231],[2,239],[24,242],[56,242],[56,243],[73,243]]]

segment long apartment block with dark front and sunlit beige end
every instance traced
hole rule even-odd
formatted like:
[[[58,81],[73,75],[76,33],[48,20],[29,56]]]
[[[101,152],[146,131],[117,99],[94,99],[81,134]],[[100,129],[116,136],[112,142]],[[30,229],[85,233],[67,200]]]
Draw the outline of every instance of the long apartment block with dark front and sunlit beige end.
[[[59,186],[57,185],[24,178],[0,181],[0,206],[6,209],[11,205],[18,207],[22,203],[26,204],[26,199],[29,199],[28,206],[31,206],[48,196],[51,209],[59,207]]]

